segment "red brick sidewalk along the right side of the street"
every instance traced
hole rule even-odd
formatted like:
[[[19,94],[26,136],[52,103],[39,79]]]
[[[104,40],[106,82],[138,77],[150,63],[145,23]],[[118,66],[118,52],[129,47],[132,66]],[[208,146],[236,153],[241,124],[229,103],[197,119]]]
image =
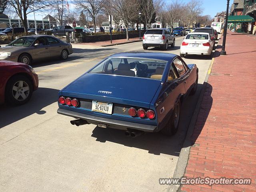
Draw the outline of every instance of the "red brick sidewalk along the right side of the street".
[[[226,52],[214,58],[184,176],[251,178],[252,184],[183,185],[181,191],[256,191],[256,38],[228,31]]]

